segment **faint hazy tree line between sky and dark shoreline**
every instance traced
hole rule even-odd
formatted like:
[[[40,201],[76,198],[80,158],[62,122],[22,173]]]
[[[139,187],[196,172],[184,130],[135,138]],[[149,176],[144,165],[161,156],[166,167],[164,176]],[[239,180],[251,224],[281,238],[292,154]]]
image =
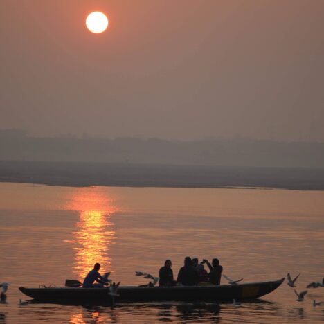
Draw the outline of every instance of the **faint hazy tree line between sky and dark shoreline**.
[[[0,160],[324,168],[324,143],[40,138],[20,130],[0,130]]]

